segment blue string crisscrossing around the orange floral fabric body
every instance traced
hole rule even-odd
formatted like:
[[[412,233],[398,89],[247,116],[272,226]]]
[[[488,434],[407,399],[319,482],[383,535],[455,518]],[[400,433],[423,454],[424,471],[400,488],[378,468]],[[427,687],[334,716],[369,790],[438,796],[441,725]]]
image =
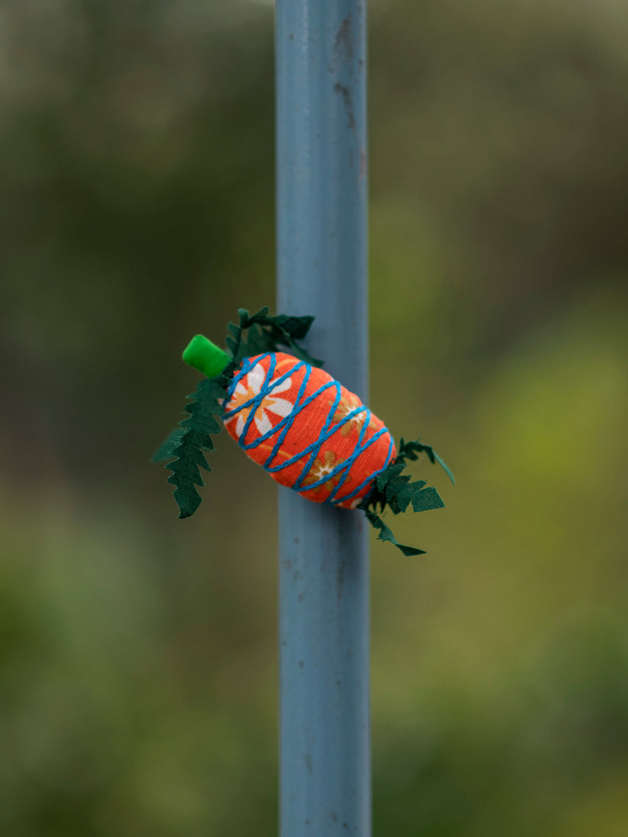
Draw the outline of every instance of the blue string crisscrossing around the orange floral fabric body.
[[[261,384],[259,393],[256,393],[254,398],[250,398],[247,401],[245,401],[245,403],[240,404],[239,407],[224,413],[223,419],[231,419],[241,410],[249,410],[249,414],[246,417],[244,427],[242,429],[242,432],[239,434],[238,438],[238,444],[244,450],[256,448],[258,445],[265,442],[266,439],[270,439],[272,436],[277,434],[275,444],[273,445],[273,448],[270,451],[269,456],[262,464],[262,467],[270,473],[275,473],[276,471],[287,468],[289,465],[293,465],[296,461],[307,457],[305,465],[303,465],[303,468],[301,469],[300,475],[297,477],[294,485],[292,485],[292,488],[294,490],[301,492],[310,491],[318,488],[320,485],[324,485],[329,480],[333,480],[337,475],[341,475],[340,479],[337,482],[337,485],[332,490],[330,496],[327,497],[327,500],[325,502],[329,505],[335,506],[344,501],[351,500],[352,497],[358,495],[366,485],[373,482],[373,480],[388,467],[393,454],[392,436],[390,437],[389,450],[383,467],[374,471],[373,474],[368,476],[368,479],[363,480],[363,482],[360,483],[360,485],[358,485],[357,488],[353,489],[353,491],[351,491],[349,494],[343,495],[342,497],[338,496],[340,490],[342,489],[342,486],[345,484],[347,480],[349,471],[351,470],[353,463],[358,459],[358,456],[363,454],[363,452],[367,450],[372,444],[374,444],[381,436],[383,436],[383,434],[389,433],[388,429],[384,427],[378,430],[376,433],[373,434],[373,436],[371,436],[370,439],[368,439],[367,442],[364,442],[364,436],[366,434],[368,424],[371,419],[371,411],[364,406],[355,408],[350,413],[347,413],[347,415],[339,422],[337,422],[337,424],[332,424],[333,417],[336,414],[336,410],[338,404],[340,403],[342,395],[340,384],[332,379],[327,383],[323,384],[322,387],[319,387],[315,393],[311,393],[311,395],[307,396],[307,398],[304,398],[303,396],[306,391],[307,383],[311,377],[312,367],[309,363],[306,363],[304,361],[297,361],[288,372],[284,372],[282,375],[280,375],[280,377],[277,377],[275,378],[275,380],[273,380],[273,374],[275,372],[276,367],[275,352],[266,352],[263,355],[255,357],[254,359],[251,359],[249,357],[245,358],[245,361],[242,363],[239,372],[237,372],[237,374],[234,375],[231,384],[229,385],[225,403],[229,402],[234,393],[235,388],[238,386],[242,378],[245,377],[245,375],[247,375],[251,371],[251,368],[254,367],[255,364],[265,360],[265,358],[267,357],[270,358],[270,363],[268,365],[268,369],[266,369],[265,371],[264,381]],[[283,419],[281,419],[281,421],[278,424],[275,424],[275,427],[270,429],[267,433],[262,434],[258,439],[255,439],[252,442],[246,443],[246,435],[249,432],[251,423],[255,419],[255,412],[257,408],[261,406],[261,403],[264,401],[264,399],[267,398],[268,395],[272,393],[272,391],[275,388],[277,388],[281,383],[286,381],[288,377],[291,377],[291,375],[294,375],[296,372],[298,372],[301,369],[301,367],[305,369],[305,372],[303,374],[303,380],[301,381],[299,391],[296,395],[294,408],[291,410],[291,413]],[[291,459],[282,462],[280,465],[271,465],[272,461],[275,459],[275,456],[281,449],[281,444],[283,444],[284,439],[286,439],[286,434],[288,434],[289,430],[291,429],[292,424],[296,419],[296,416],[299,413],[301,413],[301,411],[304,408],[306,408],[306,406],[309,403],[318,398],[318,396],[324,393],[327,389],[334,390],[334,398],[332,398],[332,401],[330,402],[329,412],[327,413],[327,418],[325,419],[325,423],[322,426],[318,439],[315,442],[308,444],[298,454],[292,456]],[[330,439],[333,434],[337,433],[338,430],[342,429],[342,427],[344,427],[344,425],[347,424],[347,422],[353,421],[353,419],[355,419],[355,417],[360,413],[366,413],[366,415],[364,417],[363,424],[360,429],[358,443],[355,445],[352,454],[348,456],[346,460],[343,460],[339,465],[333,468],[328,474],[324,475],[322,479],[317,480],[316,482],[312,482],[310,483],[310,485],[303,485],[303,480],[306,479],[306,476],[308,475],[311,466],[317,459],[317,456],[321,451],[322,445],[327,441],[327,439]]]

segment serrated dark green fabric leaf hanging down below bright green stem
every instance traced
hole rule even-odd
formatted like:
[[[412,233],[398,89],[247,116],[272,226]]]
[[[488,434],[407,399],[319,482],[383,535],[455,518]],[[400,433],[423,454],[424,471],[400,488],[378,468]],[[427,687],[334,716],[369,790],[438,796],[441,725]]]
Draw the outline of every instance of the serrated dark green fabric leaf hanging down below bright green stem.
[[[198,383],[196,392],[188,395],[190,403],[184,410],[188,418],[179,423],[179,427],[168,436],[157,454],[168,462],[167,470],[172,471],[167,481],[176,485],[174,499],[179,507],[179,517],[189,517],[198,509],[201,496],[196,486],[205,485],[199,468],[210,471],[203,451],[214,450],[214,441],[209,434],[219,433],[221,425],[216,420],[224,412],[223,400],[229,378],[224,375],[203,378]]]

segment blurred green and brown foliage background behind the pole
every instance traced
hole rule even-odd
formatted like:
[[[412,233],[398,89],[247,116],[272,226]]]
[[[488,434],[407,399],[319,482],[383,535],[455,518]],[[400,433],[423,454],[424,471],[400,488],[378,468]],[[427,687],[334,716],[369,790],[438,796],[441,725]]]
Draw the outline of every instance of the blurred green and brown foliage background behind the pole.
[[[628,10],[370,5],[378,837],[628,834]],[[275,491],[147,465],[274,300],[272,8],[0,5],[0,833],[276,829]]]

